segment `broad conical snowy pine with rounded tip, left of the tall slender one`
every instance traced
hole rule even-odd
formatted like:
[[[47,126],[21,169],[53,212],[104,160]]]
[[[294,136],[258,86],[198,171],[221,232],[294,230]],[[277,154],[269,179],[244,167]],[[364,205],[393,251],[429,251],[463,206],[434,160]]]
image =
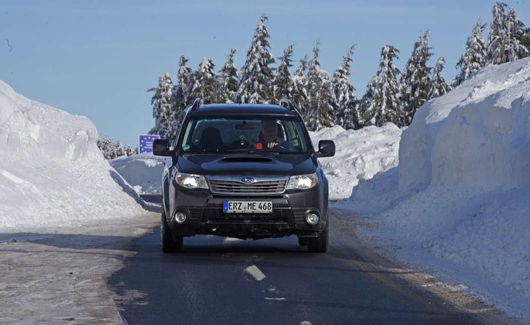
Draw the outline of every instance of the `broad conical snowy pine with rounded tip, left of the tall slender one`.
[[[381,49],[381,63],[377,73],[372,77],[366,93],[360,101],[360,111],[365,125],[381,125],[392,122],[398,127],[404,125],[400,101],[400,71],[393,63],[399,59],[398,49],[385,45]]]

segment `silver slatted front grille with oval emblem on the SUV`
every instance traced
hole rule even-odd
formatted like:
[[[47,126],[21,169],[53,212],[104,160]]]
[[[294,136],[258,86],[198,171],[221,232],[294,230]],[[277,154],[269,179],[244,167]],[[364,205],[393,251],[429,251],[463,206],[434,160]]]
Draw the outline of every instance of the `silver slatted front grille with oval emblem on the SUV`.
[[[235,177],[237,178],[237,177]],[[244,184],[231,179],[209,178],[211,191],[214,193],[236,193],[236,194],[271,194],[282,193],[287,185],[287,177],[282,179],[257,180],[252,184]]]

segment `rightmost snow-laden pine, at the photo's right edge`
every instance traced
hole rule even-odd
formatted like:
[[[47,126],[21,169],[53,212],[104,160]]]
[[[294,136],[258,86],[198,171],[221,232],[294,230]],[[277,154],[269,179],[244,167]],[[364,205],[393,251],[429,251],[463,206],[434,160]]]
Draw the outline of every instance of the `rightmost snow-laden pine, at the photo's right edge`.
[[[506,38],[507,62],[513,62],[530,56],[530,35],[525,28],[525,24],[517,18],[514,8],[508,10]]]

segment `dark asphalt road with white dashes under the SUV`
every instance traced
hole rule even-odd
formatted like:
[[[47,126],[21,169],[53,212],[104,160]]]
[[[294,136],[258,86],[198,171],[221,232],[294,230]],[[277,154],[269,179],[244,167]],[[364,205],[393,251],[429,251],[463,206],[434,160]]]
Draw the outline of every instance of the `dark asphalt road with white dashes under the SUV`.
[[[136,256],[109,283],[128,324],[482,323],[335,223],[328,254],[306,252],[293,236],[196,236],[184,238],[181,254],[163,254],[157,228],[136,241]]]

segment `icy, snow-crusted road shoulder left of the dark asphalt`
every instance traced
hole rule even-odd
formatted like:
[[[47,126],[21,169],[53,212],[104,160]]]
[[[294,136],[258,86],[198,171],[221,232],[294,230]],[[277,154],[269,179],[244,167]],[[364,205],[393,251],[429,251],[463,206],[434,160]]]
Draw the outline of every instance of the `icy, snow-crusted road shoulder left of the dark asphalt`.
[[[0,230],[1,322],[122,324],[107,279],[159,218],[145,212],[125,220]]]

